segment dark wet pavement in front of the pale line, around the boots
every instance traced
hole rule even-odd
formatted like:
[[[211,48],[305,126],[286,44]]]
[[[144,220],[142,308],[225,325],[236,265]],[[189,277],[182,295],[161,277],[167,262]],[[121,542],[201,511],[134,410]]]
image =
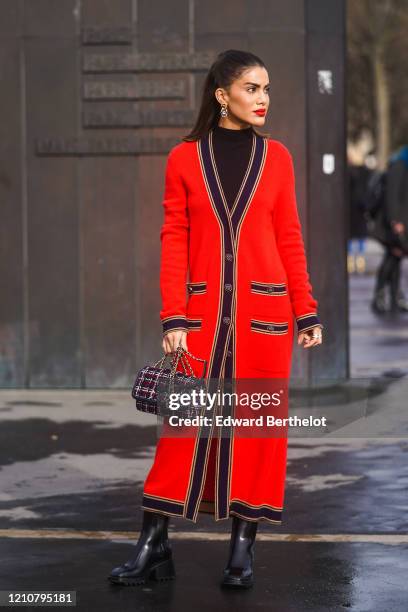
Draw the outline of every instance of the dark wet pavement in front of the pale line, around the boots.
[[[9,588],[4,573],[13,568],[14,589],[76,591],[81,610],[406,610],[407,545],[258,541],[256,582],[241,593],[218,586],[226,544],[175,540],[176,579],[127,588],[105,575],[131,555],[130,544],[8,539],[1,542],[1,588]]]

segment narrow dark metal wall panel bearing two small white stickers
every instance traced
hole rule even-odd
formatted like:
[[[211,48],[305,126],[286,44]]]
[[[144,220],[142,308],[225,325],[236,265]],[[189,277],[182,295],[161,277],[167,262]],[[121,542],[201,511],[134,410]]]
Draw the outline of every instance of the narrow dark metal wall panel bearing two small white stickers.
[[[324,348],[312,349],[305,372],[310,380],[336,380],[350,374],[345,3],[306,0],[305,8],[307,251],[326,326]]]

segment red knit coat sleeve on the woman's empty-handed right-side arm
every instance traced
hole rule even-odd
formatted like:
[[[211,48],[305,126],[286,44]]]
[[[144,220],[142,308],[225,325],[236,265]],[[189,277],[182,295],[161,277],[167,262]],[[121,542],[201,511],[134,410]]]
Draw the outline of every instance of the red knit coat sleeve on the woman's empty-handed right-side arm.
[[[288,277],[288,293],[298,332],[320,323],[318,302],[312,296],[305,247],[296,203],[292,155],[282,147],[280,189],[273,212],[277,247]]]

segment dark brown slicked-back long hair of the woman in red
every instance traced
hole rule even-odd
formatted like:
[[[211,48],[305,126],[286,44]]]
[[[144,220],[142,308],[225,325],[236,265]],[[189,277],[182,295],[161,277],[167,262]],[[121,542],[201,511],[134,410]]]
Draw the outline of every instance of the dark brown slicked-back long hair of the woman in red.
[[[228,90],[233,81],[239,79],[245,70],[254,66],[266,68],[261,58],[249,51],[228,49],[217,55],[203,84],[201,105],[195,125],[182,140],[199,140],[218,125],[221,105],[215,97],[215,90],[218,87]],[[254,131],[260,136],[269,136],[259,133],[256,129]]]

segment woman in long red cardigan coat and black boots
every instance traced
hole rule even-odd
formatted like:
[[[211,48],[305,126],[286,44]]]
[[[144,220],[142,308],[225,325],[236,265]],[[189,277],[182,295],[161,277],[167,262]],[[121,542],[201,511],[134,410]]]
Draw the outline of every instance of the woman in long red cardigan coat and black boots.
[[[299,344],[322,342],[292,158],[282,143],[256,130],[268,107],[262,60],[245,51],[221,53],[205,80],[193,130],[167,160],[163,349],[174,353],[181,345],[206,359],[206,376],[216,381],[287,379],[293,315]],[[190,363],[201,375],[202,364]],[[217,521],[232,517],[222,585],[253,584],[258,522],[281,523],[287,438],[234,437],[228,428],[218,439],[204,433],[200,427],[189,438],[160,438],[144,483],[135,555],[112,571],[112,582],[174,577],[169,516],[196,522],[207,512]]]

